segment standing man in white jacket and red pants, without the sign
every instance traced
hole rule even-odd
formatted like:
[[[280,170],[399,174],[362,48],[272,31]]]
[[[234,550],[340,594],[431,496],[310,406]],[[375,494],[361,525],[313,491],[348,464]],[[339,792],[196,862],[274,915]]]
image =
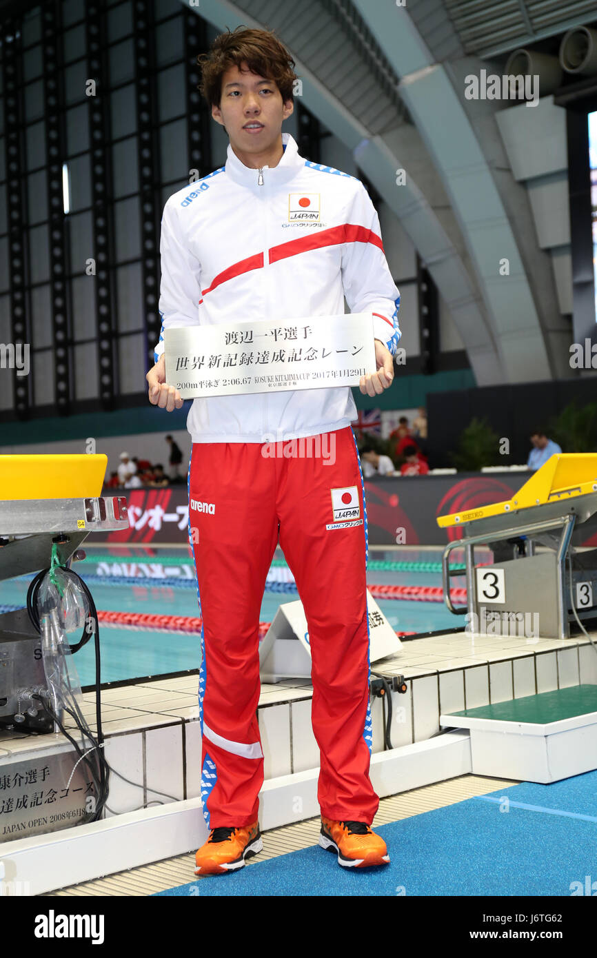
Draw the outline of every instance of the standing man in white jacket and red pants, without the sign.
[[[379,395],[394,376],[400,294],[368,194],[356,178],[305,160],[282,133],[296,75],[274,34],[221,34],[198,61],[201,91],[230,144],[225,167],[166,203],[164,327],[337,315],[346,296],[351,311],[373,314],[377,372],[361,377],[360,390]],[[291,217],[309,208],[316,216]],[[182,401],[165,382],[161,338],[147,376],[149,399],[172,411]],[[343,866],[389,861],[370,827],[379,797],[369,779],[366,513],[355,419],[348,386],[206,397],[191,407],[201,798],[210,830],[195,855],[197,875],[240,868],[263,848],[259,617],[278,541],[310,629],[319,843]],[[265,454],[272,431],[282,437],[276,457]],[[333,457],[286,456],[291,441],[303,437],[319,439],[320,448],[330,441]],[[334,521],[348,503],[352,520]]]

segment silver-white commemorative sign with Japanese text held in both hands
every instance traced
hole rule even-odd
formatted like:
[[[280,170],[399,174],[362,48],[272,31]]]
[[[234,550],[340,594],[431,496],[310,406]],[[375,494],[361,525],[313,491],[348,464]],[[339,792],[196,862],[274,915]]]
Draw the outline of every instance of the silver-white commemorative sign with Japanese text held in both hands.
[[[370,312],[176,327],[164,348],[182,399],[357,386],[377,371]]]

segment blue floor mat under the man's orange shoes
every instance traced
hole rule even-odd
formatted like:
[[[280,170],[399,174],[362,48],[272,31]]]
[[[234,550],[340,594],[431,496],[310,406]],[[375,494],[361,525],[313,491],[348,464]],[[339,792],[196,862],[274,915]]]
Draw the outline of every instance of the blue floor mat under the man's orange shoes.
[[[380,826],[391,860],[379,868],[342,868],[313,846],[158,896],[569,897],[597,878],[596,790],[597,771],[525,782]]]

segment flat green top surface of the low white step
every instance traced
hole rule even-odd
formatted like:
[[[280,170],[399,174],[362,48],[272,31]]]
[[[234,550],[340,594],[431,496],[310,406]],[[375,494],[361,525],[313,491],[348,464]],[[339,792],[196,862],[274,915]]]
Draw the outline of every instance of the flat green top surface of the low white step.
[[[590,712],[597,712],[597,685],[571,685],[566,689],[554,689],[553,692],[540,692],[537,696],[513,698],[508,702],[480,705],[475,709],[444,715],[446,718],[463,716],[544,725],[547,722],[574,719]]]

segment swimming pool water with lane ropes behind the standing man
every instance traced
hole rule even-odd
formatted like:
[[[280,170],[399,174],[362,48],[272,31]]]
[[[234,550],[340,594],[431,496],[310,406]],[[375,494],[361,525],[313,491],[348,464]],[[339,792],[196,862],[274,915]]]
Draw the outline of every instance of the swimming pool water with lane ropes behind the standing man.
[[[198,618],[195,569],[190,564],[187,548],[135,546],[122,549],[103,543],[93,546],[85,542],[84,549],[87,559],[74,563],[73,568],[87,582],[99,612],[143,612]],[[369,551],[367,584],[440,586],[438,565],[441,555],[440,548],[396,550],[372,547]],[[284,554],[277,550],[274,563],[283,560]],[[459,557],[455,557],[455,561],[459,561]],[[407,563],[409,568],[379,568],[382,563],[391,563],[392,566],[395,563]],[[424,571],[422,566],[431,568]],[[282,568],[281,565],[278,567]],[[121,573],[134,572],[136,578],[109,575],[119,570]],[[173,580],[174,570],[178,570],[178,582]],[[148,573],[158,578],[148,578]],[[167,582],[161,582],[160,576],[167,576]],[[102,582],[102,577],[109,581]],[[31,579],[33,576],[0,582],[0,604],[25,605]],[[464,583],[464,577],[456,577],[453,581],[454,586],[463,586]],[[260,621],[271,622],[280,604],[294,602],[298,598],[296,592],[266,590]],[[464,625],[463,618],[452,615],[442,603],[382,598],[376,599],[376,602],[395,631],[429,632]],[[73,634],[70,639],[75,643],[79,641],[79,636]],[[101,623],[100,640],[103,683],[198,670],[200,665],[200,632],[184,634]],[[91,686],[95,681],[92,641],[77,652],[74,661],[81,686]]]

